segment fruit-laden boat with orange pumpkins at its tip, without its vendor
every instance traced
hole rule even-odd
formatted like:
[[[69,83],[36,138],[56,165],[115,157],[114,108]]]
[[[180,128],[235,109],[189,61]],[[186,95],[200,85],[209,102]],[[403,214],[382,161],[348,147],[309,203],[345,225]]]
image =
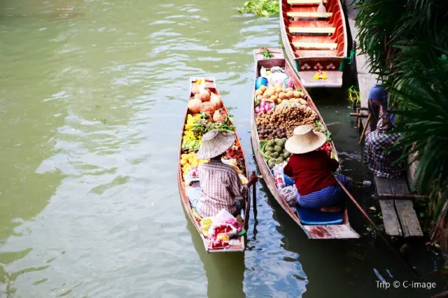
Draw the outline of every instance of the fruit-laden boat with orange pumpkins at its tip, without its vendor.
[[[209,239],[207,239],[207,231],[204,232],[204,227],[201,225],[201,216],[195,211],[190,204],[190,199],[188,195],[193,192],[189,192],[190,190],[197,190],[200,188],[200,183],[198,179],[191,179],[191,173],[195,172],[195,168],[199,164],[207,162],[207,160],[199,160],[196,157],[197,149],[200,146],[200,142],[202,139],[202,134],[204,134],[204,127],[200,127],[200,132],[197,132],[197,129],[194,128],[200,126],[198,122],[203,123],[207,122],[207,125],[210,127],[208,129],[217,129],[220,125],[215,118],[218,116],[225,117],[221,123],[225,125],[222,127],[223,129],[227,128],[230,132],[236,135],[236,141],[232,148],[230,148],[225,157],[223,157],[223,162],[230,164],[235,167],[237,172],[239,173],[239,177],[241,182],[246,183],[248,178],[246,159],[244,158],[244,152],[241,149],[241,143],[239,141],[237,132],[235,127],[232,127],[232,122],[230,120],[230,115],[228,115],[228,111],[221,101],[220,94],[216,89],[216,80],[215,78],[190,78],[190,91],[188,93],[188,107],[186,108],[186,115],[183,121],[183,127],[181,131],[181,148],[179,150],[179,165],[178,165],[178,185],[179,185],[179,193],[181,194],[181,200],[183,204],[183,208],[188,215],[188,218],[193,225],[195,226],[196,231],[200,234],[202,241],[204,242],[204,248],[208,253],[235,253],[235,252],[243,252],[246,247],[246,230],[248,229],[248,216],[249,216],[249,207],[250,201],[249,198],[246,197],[242,201],[241,208],[241,219],[244,220],[242,223],[243,229],[239,235],[233,237],[232,239],[225,241],[225,248],[212,248],[209,246]],[[200,99],[200,86],[204,89],[207,89],[211,94],[211,99],[207,99],[206,101],[199,100],[198,103],[193,102],[195,99]],[[218,101],[221,101],[221,104],[218,104]],[[191,110],[197,110],[197,107],[200,106],[200,113],[192,113]],[[215,107],[213,107],[215,106]],[[218,108],[219,107],[219,108]],[[214,111],[218,113],[214,114]],[[197,112],[197,111],[195,111]],[[204,112],[204,113],[202,113]],[[200,120],[200,121],[198,121]],[[230,129],[229,129],[230,127]],[[219,130],[219,129],[218,129]],[[197,192],[196,192],[197,193]]]

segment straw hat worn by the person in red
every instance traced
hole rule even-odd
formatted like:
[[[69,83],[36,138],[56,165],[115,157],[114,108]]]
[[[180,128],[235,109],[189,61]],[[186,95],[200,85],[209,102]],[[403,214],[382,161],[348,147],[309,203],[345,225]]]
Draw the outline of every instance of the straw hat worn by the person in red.
[[[321,148],[327,141],[325,134],[314,132],[312,125],[295,127],[293,136],[285,143],[285,149],[293,154],[303,154]]]

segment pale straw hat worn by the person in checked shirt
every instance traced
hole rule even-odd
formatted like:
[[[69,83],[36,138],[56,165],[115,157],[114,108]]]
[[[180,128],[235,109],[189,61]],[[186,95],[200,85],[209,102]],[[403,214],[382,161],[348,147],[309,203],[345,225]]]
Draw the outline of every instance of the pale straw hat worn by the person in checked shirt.
[[[197,158],[209,159],[223,154],[232,147],[237,137],[235,134],[223,134],[213,129],[202,136],[202,144],[197,150]]]

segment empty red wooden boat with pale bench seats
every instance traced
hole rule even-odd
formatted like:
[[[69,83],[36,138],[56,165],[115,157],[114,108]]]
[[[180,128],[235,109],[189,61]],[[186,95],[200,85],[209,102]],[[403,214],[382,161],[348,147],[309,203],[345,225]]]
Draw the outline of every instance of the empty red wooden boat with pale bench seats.
[[[327,13],[318,13],[321,0],[279,1],[283,47],[304,87],[342,87],[347,36],[341,2],[324,0]],[[318,70],[326,78],[314,78]]]

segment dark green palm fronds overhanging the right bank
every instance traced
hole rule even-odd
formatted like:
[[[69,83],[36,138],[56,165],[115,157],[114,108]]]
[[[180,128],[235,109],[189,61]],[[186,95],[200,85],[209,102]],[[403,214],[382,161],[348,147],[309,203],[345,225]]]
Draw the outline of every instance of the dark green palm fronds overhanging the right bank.
[[[400,117],[402,159],[419,152],[419,190],[432,191],[435,218],[448,195],[448,1],[358,0],[356,7],[359,47]]]

